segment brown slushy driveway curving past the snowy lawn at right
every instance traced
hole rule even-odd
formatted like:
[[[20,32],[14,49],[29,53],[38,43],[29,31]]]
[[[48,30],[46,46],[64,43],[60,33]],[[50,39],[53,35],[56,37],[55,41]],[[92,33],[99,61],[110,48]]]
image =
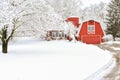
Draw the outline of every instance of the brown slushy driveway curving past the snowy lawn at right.
[[[113,58],[116,59],[116,67],[104,78],[105,80],[120,80],[120,44],[98,44],[99,48],[103,50],[108,50],[113,55]],[[115,49],[118,48],[118,49]]]

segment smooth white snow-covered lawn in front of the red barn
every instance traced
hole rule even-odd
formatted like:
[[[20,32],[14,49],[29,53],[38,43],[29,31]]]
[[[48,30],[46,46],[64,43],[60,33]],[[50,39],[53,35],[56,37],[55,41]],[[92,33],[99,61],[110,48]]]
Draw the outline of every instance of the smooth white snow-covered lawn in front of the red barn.
[[[111,60],[109,52],[80,42],[20,40],[9,45],[8,54],[0,54],[0,80],[97,78],[95,73]]]

